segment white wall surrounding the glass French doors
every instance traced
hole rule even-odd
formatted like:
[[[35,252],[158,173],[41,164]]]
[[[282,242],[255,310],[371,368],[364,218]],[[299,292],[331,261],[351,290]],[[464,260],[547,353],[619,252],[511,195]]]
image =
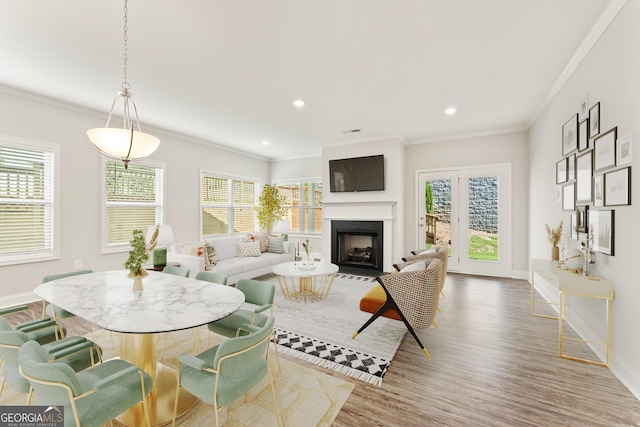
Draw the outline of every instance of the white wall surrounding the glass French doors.
[[[527,141],[526,132],[515,132],[407,145],[404,171],[404,197],[407,201],[404,234],[416,236],[418,232],[416,171],[510,163],[513,181],[512,271],[514,277],[526,277],[529,265]],[[415,249],[415,245],[415,238],[407,238],[404,253]]]

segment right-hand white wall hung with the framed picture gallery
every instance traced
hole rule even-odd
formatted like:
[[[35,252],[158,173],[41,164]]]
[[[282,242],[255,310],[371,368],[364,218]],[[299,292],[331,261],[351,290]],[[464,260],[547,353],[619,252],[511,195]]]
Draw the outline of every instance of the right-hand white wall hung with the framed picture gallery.
[[[636,263],[640,237],[640,2],[628,1],[593,46],[530,131],[529,250],[532,258],[549,258],[544,224],[568,224],[570,214],[555,202],[555,162],[562,157],[562,125],[578,112],[585,96],[600,102],[601,131],[617,126],[618,136],[632,134],[632,205],[615,209],[615,256],[598,254],[593,271],[615,285],[612,308],[611,370],[640,398],[640,286]],[[602,304],[570,301],[600,332]]]

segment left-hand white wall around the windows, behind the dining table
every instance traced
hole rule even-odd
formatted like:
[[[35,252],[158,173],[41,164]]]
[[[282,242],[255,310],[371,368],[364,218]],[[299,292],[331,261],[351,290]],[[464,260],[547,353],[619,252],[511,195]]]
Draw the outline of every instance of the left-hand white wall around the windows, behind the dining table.
[[[18,95],[12,95],[16,93]],[[109,102],[109,100],[105,100]],[[74,260],[96,271],[124,269],[127,253],[101,255],[102,201],[100,154],[86,136],[90,127],[104,126],[106,114],[88,112],[0,89],[0,135],[60,145],[60,259],[0,267],[0,306],[33,299],[42,277],[71,271]],[[144,124],[143,124],[144,127]],[[152,159],[166,162],[165,222],[176,241],[200,238],[200,169],[259,178],[268,182],[269,162],[197,143],[157,129],[160,148]]]

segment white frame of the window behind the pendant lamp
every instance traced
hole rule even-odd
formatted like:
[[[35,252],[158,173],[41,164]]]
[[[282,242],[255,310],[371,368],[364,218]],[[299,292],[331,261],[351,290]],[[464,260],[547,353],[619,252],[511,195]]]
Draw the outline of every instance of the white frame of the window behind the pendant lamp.
[[[101,162],[101,176],[102,176],[102,232],[101,232],[101,241],[102,241],[102,254],[111,254],[111,253],[120,253],[120,252],[128,252],[131,250],[131,245],[129,242],[123,243],[107,243],[107,162],[118,162],[118,160],[114,160],[108,158],[106,156],[102,156]],[[157,200],[154,203],[156,207],[156,224],[164,224],[164,201],[165,201],[165,192],[166,192],[166,181],[167,181],[167,168],[166,162],[158,161],[158,160],[137,160],[135,162],[136,166],[145,166],[156,168],[159,170],[160,177],[156,180],[156,189],[157,189]],[[132,203],[135,205],[135,203]],[[147,230],[142,230],[147,233]],[[133,236],[132,236],[133,237]]]

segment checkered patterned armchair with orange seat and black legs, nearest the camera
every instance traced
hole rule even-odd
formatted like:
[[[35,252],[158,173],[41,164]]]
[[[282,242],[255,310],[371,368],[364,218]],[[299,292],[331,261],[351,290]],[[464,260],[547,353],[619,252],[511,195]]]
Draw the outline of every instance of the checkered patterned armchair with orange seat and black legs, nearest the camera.
[[[373,313],[373,316],[358,329],[353,338],[380,316],[401,320],[427,358],[431,359],[415,329],[426,329],[433,324],[442,288],[443,265],[439,259],[421,262],[425,263],[425,268],[410,268],[408,270],[412,271],[376,277],[379,285],[360,300],[360,310]]]

